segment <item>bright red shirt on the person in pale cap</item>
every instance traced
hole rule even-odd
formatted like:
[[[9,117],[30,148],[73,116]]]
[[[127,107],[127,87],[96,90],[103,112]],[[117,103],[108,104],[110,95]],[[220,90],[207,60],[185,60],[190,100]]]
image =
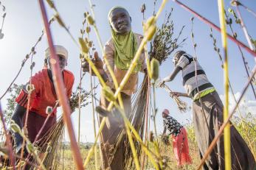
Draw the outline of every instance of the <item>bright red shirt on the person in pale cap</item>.
[[[66,94],[70,98],[72,86],[74,84],[74,75],[72,72],[64,70],[63,81],[66,87]],[[30,95],[30,111],[46,117],[46,107],[54,107],[58,100],[53,82],[51,82],[51,79],[49,78],[47,69],[43,69],[31,77],[31,83],[35,86],[35,90],[32,91]],[[28,94],[23,89],[15,99],[15,102],[17,102],[18,105],[27,108],[27,96]],[[55,116],[55,114],[56,109],[53,111],[51,116]]]

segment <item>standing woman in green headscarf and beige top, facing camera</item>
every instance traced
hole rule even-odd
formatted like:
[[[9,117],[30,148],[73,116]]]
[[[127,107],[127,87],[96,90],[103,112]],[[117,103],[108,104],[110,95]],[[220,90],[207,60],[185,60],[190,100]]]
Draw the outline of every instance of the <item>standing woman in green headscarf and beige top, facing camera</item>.
[[[108,60],[117,82],[120,84],[128,71],[131,61],[134,59],[134,55],[142,41],[142,35],[136,34],[131,30],[131,16],[123,7],[113,7],[108,13],[108,21],[111,26],[111,39],[105,43],[105,60]],[[97,53],[94,54],[94,63],[105,83],[115,91],[113,79],[106,63],[105,61],[102,63],[100,58],[97,57]],[[86,63],[85,68],[89,71],[88,63]],[[136,68],[121,91],[126,116],[131,114],[131,95],[136,91],[139,71],[146,71],[144,54],[141,54]],[[103,96],[101,96],[100,103],[104,109],[108,107],[108,101]],[[103,112],[102,110],[101,113]],[[123,130],[122,118],[116,109],[112,110],[112,112],[114,114],[108,114],[106,118],[107,125],[105,125],[102,132],[102,166],[103,169],[123,169],[125,142],[123,136],[117,138]]]

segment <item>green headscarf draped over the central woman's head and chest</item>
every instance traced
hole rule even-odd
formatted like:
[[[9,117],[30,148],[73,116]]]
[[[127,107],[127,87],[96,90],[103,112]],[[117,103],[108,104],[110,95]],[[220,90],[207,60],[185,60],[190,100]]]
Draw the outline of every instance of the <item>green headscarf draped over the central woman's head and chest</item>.
[[[117,8],[123,7],[113,7],[109,13],[108,13],[108,19],[111,12]],[[128,34],[125,35],[118,35],[114,30],[111,28],[111,35],[112,40],[114,42],[114,63],[117,66],[117,68],[120,68],[121,70],[128,70],[128,68],[131,65],[131,61],[134,59],[134,56],[136,54],[136,50],[138,48],[137,40],[134,35],[134,32],[130,31]],[[142,66],[142,63],[139,63],[139,61],[136,64],[136,67],[134,68],[133,73],[136,73],[140,71]]]

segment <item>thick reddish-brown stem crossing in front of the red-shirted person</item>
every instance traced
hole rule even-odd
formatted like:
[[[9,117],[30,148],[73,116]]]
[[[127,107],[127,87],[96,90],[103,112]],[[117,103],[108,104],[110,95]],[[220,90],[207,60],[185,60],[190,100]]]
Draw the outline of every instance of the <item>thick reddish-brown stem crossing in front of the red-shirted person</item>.
[[[75,140],[75,132],[72,126],[72,121],[70,118],[70,107],[69,107],[69,101],[68,98],[66,96],[66,92],[65,92],[65,86],[63,84],[63,78],[61,76],[60,73],[60,65],[58,64],[58,58],[56,56],[55,53],[55,49],[53,46],[53,42],[52,42],[52,35],[49,29],[49,23],[47,22],[47,15],[46,15],[46,9],[44,7],[44,1],[43,0],[38,0],[39,4],[40,4],[40,8],[41,8],[41,13],[42,13],[42,17],[44,19],[44,26],[46,29],[46,35],[47,35],[47,40],[49,43],[49,49],[50,49],[50,54],[51,54],[51,59],[55,60],[56,63],[51,63],[52,66],[52,74],[53,77],[55,77],[54,80],[54,84],[55,84],[55,89],[57,92],[57,96],[58,99],[60,101],[60,105],[63,108],[63,121],[66,124],[67,130],[69,132],[69,138],[70,138],[70,144],[71,144],[71,149],[73,152],[73,157],[75,160],[75,166],[76,169],[83,169],[83,160],[82,157],[80,155],[80,150],[79,147],[77,145],[77,141]]]

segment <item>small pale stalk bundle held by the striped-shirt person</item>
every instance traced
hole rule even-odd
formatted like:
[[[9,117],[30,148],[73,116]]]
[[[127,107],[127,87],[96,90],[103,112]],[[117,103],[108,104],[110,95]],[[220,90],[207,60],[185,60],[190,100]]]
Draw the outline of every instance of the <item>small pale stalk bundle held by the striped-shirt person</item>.
[[[186,112],[187,111],[187,103],[186,102],[183,102],[181,101],[181,99],[179,99],[178,96],[176,96],[175,94],[173,94],[173,91],[170,90],[170,88],[167,86],[167,85],[161,85],[161,80],[159,79],[158,81],[156,81],[156,88],[165,88],[165,90],[169,93],[169,96],[171,98],[174,99],[174,101],[176,102],[178,108],[179,108],[179,111],[180,112]],[[161,85],[161,86],[160,86]]]

